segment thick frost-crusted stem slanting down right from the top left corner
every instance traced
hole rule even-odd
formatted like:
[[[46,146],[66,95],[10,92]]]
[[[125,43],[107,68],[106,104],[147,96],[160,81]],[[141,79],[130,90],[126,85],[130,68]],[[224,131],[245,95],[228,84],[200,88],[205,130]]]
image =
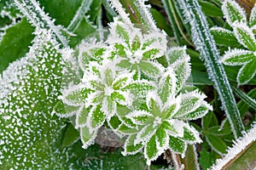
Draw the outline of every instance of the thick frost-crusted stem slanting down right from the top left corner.
[[[44,13],[39,3],[35,0],[15,0],[15,5],[20,12],[26,16],[32,26],[53,31],[56,39],[67,48],[67,39],[61,34],[61,26],[55,26],[48,14]]]

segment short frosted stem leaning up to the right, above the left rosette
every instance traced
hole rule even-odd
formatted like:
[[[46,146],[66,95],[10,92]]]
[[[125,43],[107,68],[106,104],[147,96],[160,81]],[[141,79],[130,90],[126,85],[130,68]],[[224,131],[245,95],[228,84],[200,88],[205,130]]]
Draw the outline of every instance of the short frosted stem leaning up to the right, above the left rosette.
[[[83,0],[76,14],[73,16],[73,20],[71,20],[69,26],[67,26],[68,31],[73,32],[78,28],[80,22],[84,18],[84,14],[90,9],[91,3],[92,0]]]

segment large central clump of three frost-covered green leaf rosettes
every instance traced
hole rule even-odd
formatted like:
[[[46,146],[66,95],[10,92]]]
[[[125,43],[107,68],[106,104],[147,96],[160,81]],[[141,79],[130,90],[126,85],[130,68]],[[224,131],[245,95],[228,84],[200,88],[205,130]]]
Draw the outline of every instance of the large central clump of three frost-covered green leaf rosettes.
[[[148,165],[167,149],[183,154],[187,144],[201,142],[188,121],[212,107],[206,95],[183,90],[189,55],[186,48],[167,48],[166,42],[164,32],[143,33],[116,18],[105,42],[79,45],[84,76],[62,90],[55,112],[75,117],[85,149],[102,126],[125,137],[124,155],[144,150]],[[166,67],[160,57],[166,58]]]

